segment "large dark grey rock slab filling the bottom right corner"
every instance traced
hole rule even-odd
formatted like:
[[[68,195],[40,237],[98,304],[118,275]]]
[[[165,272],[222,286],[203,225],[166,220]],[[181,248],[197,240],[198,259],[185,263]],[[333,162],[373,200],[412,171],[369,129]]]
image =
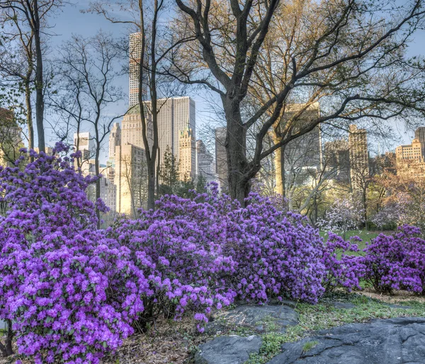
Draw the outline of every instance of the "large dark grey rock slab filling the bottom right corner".
[[[308,342],[317,344],[304,351]],[[400,317],[339,326],[285,343],[282,351],[268,364],[424,364],[425,319]]]

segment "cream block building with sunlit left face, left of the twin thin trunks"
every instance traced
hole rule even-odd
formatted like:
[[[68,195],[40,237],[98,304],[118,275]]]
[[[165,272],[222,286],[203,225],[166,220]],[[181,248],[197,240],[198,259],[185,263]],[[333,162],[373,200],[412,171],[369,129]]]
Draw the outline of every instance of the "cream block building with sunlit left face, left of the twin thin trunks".
[[[116,212],[135,217],[146,200],[145,149],[121,144],[115,149]]]

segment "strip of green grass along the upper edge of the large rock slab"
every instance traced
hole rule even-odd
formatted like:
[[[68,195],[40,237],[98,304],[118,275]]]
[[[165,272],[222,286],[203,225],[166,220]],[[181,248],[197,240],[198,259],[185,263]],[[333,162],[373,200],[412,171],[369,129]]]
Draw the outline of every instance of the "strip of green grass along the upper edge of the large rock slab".
[[[350,302],[356,307],[351,309],[336,308],[332,302]],[[245,364],[263,364],[280,353],[283,343],[299,341],[314,334],[314,331],[331,329],[334,326],[351,324],[353,322],[368,322],[370,319],[387,319],[391,317],[424,317],[425,303],[409,301],[401,305],[409,309],[392,308],[385,302],[373,300],[355,293],[335,294],[322,298],[317,305],[298,304],[296,311],[300,314],[298,324],[288,326],[285,334],[267,332],[263,334],[262,346],[258,354],[251,354]],[[314,341],[307,342],[311,350]]]

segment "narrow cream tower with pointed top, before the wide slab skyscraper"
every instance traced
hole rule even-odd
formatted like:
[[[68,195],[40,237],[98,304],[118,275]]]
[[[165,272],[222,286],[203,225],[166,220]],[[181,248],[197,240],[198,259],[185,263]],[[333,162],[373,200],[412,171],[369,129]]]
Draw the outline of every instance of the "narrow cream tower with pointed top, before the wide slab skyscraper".
[[[181,181],[191,181],[196,176],[196,142],[189,127],[180,134],[179,174]]]

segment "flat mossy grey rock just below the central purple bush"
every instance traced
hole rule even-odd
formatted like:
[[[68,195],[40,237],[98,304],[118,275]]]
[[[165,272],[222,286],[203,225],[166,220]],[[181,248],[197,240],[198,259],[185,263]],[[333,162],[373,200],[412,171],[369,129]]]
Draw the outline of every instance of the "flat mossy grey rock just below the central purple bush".
[[[296,325],[298,314],[288,305],[241,305],[228,311],[218,312],[209,322],[209,334],[229,329],[245,328],[252,331],[285,332],[286,326]]]

